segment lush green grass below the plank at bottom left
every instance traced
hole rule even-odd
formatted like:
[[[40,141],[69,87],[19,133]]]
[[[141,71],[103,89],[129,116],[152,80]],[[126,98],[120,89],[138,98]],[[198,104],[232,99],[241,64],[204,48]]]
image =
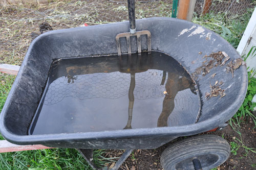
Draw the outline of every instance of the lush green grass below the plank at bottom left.
[[[98,166],[110,163],[103,150],[94,151]],[[92,169],[75,149],[45,149],[0,154],[0,169]]]

